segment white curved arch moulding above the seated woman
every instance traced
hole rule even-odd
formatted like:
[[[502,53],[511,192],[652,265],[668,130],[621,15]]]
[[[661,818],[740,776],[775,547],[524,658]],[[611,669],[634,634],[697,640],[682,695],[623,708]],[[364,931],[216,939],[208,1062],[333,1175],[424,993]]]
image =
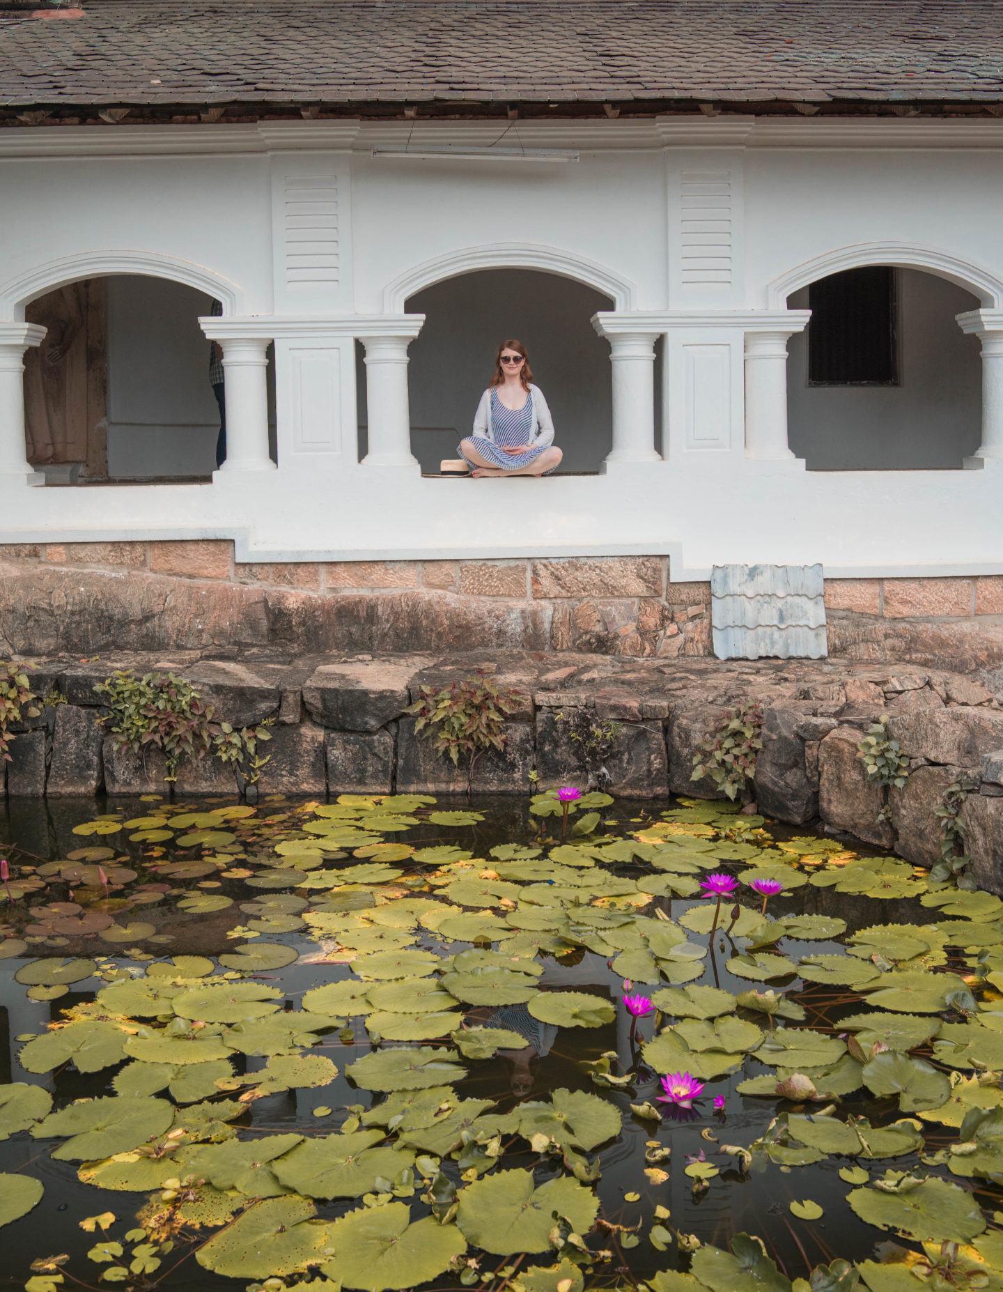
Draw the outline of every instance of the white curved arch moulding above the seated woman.
[[[603,265],[536,243],[488,243],[462,247],[405,270],[383,288],[383,310],[401,314],[408,297],[422,288],[479,269],[537,269],[558,274],[611,297],[614,310],[634,309],[636,286]]]

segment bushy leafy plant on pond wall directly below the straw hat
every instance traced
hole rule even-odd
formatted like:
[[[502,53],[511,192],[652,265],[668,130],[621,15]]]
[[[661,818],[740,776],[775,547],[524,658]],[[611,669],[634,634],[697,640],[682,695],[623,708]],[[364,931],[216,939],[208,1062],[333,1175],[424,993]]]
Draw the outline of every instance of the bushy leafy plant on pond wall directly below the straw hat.
[[[432,742],[432,748],[454,766],[466,755],[467,793],[474,783],[474,767],[488,749],[503,749],[507,736],[503,726],[509,714],[519,708],[519,693],[497,686],[483,669],[462,682],[453,682],[436,691],[421,687],[421,698],[404,712],[416,718],[414,730]]]

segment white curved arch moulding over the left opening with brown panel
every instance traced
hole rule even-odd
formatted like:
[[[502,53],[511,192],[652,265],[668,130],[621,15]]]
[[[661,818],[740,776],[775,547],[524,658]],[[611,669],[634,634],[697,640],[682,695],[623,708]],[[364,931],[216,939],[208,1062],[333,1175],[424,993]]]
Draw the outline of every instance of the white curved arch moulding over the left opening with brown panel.
[[[216,297],[222,302],[225,315],[240,313],[241,288],[203,265],[147,251],[94,251],[49,260],[8,279],[0,286],[0,318],[23,322],[25,306],[36,296],[53,292],[81,278],[105,278],[115,274],[168,278]]]

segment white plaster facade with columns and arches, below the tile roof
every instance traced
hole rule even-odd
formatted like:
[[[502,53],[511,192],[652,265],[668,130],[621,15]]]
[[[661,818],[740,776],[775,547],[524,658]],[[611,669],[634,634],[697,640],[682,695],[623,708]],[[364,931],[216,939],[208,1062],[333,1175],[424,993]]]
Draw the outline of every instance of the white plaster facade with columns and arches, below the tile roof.
[[[821,561],[829,575],[1003,572],[999,460],[984,470],[811,473],[803,460],[749,460],[749,323],[728,315],[782,309],[790,292],[833,271],[831,257],[866,261],[875,245],[900,248],[879,262],[940,271],[968,283],[984,306],[1003,307],[1003,121],[694,114],[664,123],[520,121],[518,132],[529,147],[577,147],[580,160],[372,156],[381,140],[407,143],[409,123],[3,132],[0,318],[18,319],[25,300],[68,278],[159,270],[226,298],[228,313],[261,336],[292,329],[278,346],[280,368],[293,370],[294,350],[311,357],[316,375],[329,351],[338,382],[321,372],[316,386],[337,386],[324,416],[341,422],[329,435],[311,425],[297,441],[296,417],[315,415],[318,402],[307,407],[303,397],[297,406],[298,388],[281,371],[278,442],[289,451],[280,448],[278,472],[120,487],[114,516],[99,487],[32,488],[14,473],[0,479],[0,541],[221,536],[235,537],[248,559],[669,552],[674,578],[736,561]],[[487,123],[414,128],[416,137],[451,143],[487,145],[497,134]],[[719,240],[700,251],[692,212],[704,186],[727,189],[727,230],[715,229]],[[310,187],[337,211],[337,229],[316,233],[307,282],[293,271],[305,264],[296,258],[303,221],[290,194]],[[387,311],[391,297],[403,310],[395,282],[416,296],[435,273],[460,273],[449,257],[461,253],[470,253],[466,269],[471,256],[479,269],[562,261],[581,282],[618,293],[618,309],[652,311],[639,327],[666,333],[656,391],[664,461],[545,482],[423,481],[417,468],[358,464],[349,451],[356,390],[345,337],[367,335],[356,315]],[[439,270],[426,271],[436,257]],[[332,327],[341,328],[334,340]],[[203,375],[207,350],[199,342]],[[470,358],[466,368],[480,388],[480,362]],[[540,376],[550,395],[554,381],[542,367]],[[457,386],[453,404],[425,412],[418,380],[413,421],[463,425],[475,394]],[[210,398],[208,389],[203,395]],[[971,441],[969,415],[971,407]],[[562,441],[573,421],[573,411],[567,421],[562,415]],[[710,422],[716,439],[706,434]],[[590,426],[598,437],[598,412]]]

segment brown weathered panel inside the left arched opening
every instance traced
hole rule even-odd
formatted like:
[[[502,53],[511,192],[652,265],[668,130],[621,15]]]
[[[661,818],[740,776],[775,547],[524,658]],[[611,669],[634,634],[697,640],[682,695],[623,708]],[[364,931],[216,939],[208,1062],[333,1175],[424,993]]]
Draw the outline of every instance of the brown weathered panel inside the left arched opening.
[[[34,466],[80,464],[105,475],[105,292],[101,279],[68,283],[31,301],[46,328],[25,353],[25,424]]]

